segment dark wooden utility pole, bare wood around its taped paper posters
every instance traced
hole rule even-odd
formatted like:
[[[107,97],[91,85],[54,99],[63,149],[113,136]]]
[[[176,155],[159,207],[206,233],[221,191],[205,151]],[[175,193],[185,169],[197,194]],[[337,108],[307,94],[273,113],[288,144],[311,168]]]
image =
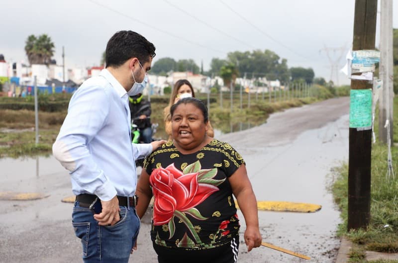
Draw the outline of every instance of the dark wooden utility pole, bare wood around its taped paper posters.
[[[377,0],[355,0],[353,51],[375,49]],[[365,91],[372,84],[351,80],[353,90]],[[370,92],[372,93],[372,92]],[[350,104],[350,126],[351,126]],[[371,107],[371,106],[370,106]],[[370,220],[372,129],[349,130],[347,229],[366,228]]]

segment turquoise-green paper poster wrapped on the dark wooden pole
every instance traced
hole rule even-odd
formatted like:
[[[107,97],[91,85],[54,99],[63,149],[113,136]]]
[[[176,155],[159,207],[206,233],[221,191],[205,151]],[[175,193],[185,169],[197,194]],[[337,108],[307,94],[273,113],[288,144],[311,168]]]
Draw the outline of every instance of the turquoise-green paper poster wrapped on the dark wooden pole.
[[[372,89],[350,90],[350,128],[372,129]]]

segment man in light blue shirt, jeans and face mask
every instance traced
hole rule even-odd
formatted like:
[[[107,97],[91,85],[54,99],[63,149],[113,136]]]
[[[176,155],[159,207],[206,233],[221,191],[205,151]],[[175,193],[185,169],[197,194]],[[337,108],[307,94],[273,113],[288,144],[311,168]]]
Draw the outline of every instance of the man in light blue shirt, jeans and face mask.
[[[106,69],[74,93],[53,145],[70,171],[72,224],[86,263],[127,263],[135,244],[135,160],[166,141],[131,143],[128,96],[142,92],[154,56],[154,45],[140,34],[116,32],[106,46]]]

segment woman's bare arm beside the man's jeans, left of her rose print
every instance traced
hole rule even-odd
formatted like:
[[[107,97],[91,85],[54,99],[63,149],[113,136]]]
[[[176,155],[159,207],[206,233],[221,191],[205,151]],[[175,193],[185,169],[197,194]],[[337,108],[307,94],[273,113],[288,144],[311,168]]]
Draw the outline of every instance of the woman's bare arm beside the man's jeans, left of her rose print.
[[[140,178],[138,179],[137,189],[135,194],[138,195],[138,203],[135,207],[137,215],[142,218],[145,215],[149,202],[152,198],[152,189],[149,184],[149,175],[145,170],[142,170]]]

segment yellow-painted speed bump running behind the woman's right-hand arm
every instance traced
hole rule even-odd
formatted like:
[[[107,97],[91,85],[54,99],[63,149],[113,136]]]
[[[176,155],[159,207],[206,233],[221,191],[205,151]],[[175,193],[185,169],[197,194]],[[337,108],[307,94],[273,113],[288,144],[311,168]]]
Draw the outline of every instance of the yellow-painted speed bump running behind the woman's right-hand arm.
[[[238,204],[236,202],[235,205],[236,208],[239,209]],[[257,208],[259,210],[267,210],[267,211],[312,213],[320,210],[322,206],[318,204],[294,203],[286,201],[258,201]]]

